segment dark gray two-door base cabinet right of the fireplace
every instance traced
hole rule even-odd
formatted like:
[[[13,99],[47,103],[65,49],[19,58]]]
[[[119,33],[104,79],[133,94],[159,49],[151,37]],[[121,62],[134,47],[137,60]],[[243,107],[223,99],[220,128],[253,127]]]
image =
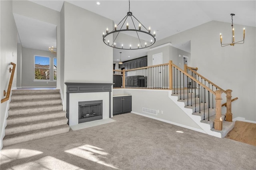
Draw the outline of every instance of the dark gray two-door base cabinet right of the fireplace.
[[[132,111],[132,96],[113,97],[113,115],[130,113]]]

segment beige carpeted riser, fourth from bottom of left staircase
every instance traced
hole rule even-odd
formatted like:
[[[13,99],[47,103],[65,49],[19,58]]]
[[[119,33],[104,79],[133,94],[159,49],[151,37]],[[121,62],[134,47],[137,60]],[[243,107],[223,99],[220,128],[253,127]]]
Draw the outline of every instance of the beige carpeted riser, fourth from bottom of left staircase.
[[[53,112],[53,111],[62,111],[62,105],[53,105],[47,107],[28,107],[22,109],[10,109],[9,116],[12,115],[29,115],[29,114],[36,114],[36,113],[44,113],[44,112]]]

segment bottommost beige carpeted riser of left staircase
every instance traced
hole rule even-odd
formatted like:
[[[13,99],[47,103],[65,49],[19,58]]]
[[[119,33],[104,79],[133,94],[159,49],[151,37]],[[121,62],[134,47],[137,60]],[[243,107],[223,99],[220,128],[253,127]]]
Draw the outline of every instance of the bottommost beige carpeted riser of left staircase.
[[[68,131],[69,131],[69,126],[67,125],[65,128],[62,127],[56,130],[48,130],[48,131],[43,131],[36,134],[26,134],[24,136],[8,138],[3,140],[3,146],[9,146],[9,145],[17,144],[20,142],[26,142],[26,141],[44,138],[48,136],[54,136],[56,134],[67,133]]]

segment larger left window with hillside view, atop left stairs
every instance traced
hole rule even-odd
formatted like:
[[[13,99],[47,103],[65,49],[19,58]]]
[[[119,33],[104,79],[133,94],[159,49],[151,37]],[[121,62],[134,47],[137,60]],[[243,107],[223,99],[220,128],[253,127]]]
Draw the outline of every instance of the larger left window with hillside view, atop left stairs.
[[[50,79],[50,57],[35,55],[35,80]]]

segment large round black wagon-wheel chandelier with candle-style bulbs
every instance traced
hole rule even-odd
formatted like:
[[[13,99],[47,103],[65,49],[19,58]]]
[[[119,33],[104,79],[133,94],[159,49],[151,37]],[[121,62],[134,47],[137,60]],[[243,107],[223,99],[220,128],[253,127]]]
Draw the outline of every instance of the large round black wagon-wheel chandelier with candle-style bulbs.
[[[136,26],[138,29],[136,29]],[[134,40],[127,42],[129,40],[124,40],[125,38],[123,38],[123,40],[120,39],[120,32],[133,36],[134,39],[136,39],[136,44],[134,44]],[[115,24],[115,27],[111,32],[108,32],[108,28],[106,29],[106,34],[103,32],[103,42],[106,45],[117,49],[143,49],[150,47],[156,42],[156,32],[153,34],[150,32],[150,27],[147,29],[139,20],[137,20],[137,18],[134,17],[134,15],[132,15],[132,12],[130,12],[129,0],[129,12],[127,12],[127,15],[117,25]],[[110,35],[113,36],[109,38],[113,38],[112,42],[110,42],[110,40],[107,38]]]

